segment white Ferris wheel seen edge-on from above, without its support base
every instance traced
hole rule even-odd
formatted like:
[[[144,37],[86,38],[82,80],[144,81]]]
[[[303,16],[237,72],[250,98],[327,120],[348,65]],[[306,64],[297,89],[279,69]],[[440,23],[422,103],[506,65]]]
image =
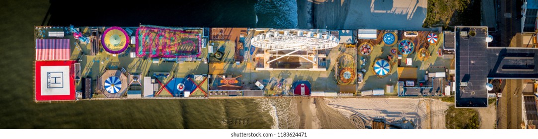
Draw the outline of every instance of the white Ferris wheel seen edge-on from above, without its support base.
[[[269,51],[321,50],[338,46],[338,38],[331,34],[306,30],[269,30],[254,36],[251,44]]]

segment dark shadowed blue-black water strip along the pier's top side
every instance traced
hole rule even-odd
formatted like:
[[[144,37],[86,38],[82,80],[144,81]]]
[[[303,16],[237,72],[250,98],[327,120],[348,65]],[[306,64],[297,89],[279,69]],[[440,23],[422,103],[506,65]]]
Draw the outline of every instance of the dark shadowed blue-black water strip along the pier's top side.
[[[55,26],[272,27],[297,25],[295,0],[256,1],[58,1],[51,0]],[[258,24],[256,18],[258,14]]]

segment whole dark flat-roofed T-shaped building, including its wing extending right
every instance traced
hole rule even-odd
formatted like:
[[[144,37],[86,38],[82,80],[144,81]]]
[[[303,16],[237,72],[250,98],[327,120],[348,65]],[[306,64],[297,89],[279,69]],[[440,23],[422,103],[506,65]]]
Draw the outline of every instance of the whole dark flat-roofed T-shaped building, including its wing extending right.
[[[538,78],[538,49],[489,47],[487,27],[457,26],[456,107],[487,107],[488,79]]]

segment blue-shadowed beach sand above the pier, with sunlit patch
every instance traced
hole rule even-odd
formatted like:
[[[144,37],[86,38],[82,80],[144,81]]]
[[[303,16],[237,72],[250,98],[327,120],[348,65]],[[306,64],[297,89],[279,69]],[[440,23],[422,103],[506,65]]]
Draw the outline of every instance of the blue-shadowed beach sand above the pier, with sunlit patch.
[[[300,0],[299,28],[424,30],[427,0]],[[311,16],[305,16],[310,13]],[[310,22],[309,22],[310,21]]]

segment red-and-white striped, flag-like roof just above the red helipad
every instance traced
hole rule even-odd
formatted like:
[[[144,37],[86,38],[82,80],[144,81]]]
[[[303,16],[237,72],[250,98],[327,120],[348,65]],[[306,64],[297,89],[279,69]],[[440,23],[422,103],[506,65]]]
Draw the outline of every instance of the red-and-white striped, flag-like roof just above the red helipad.
[[[36,39],[36,61],[69,60],[69,39]]]

